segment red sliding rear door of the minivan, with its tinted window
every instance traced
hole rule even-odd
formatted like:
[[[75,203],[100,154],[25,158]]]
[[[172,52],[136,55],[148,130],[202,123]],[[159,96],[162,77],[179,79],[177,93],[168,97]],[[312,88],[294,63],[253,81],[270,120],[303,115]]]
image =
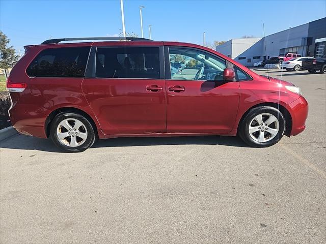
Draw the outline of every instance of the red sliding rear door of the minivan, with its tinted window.
[[[92,47],[96,72],[86,75],[82,88],[104,134],[166,132],[162,49]]]

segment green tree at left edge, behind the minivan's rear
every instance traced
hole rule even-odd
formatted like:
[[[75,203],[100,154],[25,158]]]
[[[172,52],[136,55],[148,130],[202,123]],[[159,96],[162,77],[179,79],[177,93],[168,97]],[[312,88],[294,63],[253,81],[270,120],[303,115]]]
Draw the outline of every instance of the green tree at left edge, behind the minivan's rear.
[[[8,47],[10,39],[0,31],[0,68],[8,69],[18,61],[18,55],[13,46]]]

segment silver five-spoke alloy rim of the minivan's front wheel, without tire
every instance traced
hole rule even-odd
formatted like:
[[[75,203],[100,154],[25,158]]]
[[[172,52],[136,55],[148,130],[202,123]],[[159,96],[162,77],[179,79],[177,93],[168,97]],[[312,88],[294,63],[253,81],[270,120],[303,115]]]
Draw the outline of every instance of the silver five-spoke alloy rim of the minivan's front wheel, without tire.
[[[279,120],[273,114],[261,113],[255,116],[249,124],[249,135],[258,142],[270,141],[278,134]]]

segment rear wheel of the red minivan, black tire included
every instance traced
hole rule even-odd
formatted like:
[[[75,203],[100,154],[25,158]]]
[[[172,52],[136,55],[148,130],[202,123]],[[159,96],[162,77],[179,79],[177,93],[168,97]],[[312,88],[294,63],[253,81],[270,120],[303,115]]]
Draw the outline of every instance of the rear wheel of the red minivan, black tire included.
[[[50,137],[56,146],[68,153],[85,151],[94,144],[96,139],[90,121],[74,112],[59,113],[52,120]]]

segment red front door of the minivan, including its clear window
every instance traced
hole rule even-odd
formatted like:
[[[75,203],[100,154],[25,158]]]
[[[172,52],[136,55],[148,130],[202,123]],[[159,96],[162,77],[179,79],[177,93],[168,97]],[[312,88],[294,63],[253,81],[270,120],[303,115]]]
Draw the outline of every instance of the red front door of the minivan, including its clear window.
[[[227,133],[237,114],[239,82],[225,82],[226,60],[195,48],[169,47],[166,55],[167,132]],[[173,63],[173,66],[170,66]],[[181,69],[174,68],[175,63]]]

